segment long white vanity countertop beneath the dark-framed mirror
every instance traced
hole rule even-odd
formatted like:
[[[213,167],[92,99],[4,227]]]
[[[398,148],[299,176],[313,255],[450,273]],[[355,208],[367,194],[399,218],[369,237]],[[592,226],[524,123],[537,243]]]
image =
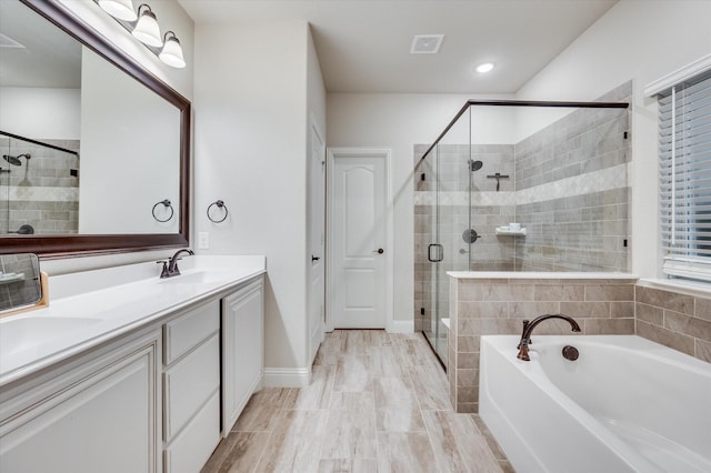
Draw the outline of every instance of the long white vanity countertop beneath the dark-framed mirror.
[[[184,256],[181,275],[154,262],[49,278],[50,305],[0,319],[0,386],[267,271],[261,255]]]

